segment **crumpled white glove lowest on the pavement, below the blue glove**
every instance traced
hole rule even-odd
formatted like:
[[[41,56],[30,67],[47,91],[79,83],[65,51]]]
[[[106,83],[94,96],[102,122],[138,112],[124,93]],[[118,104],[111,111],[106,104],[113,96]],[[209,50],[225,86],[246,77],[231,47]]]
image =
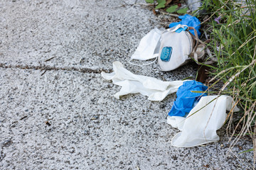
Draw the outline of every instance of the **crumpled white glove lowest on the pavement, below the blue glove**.
[[[203,96],[186,118],[168,116],[167,123],[181,130],[172,138],[171,145],[196,147],[208,142],[217,142],[220,137],[216,130],[225,123],[226,111],[239,111],[234,104],[230,96]],[[172,117],[177,118],[176,122],[173,122]]]

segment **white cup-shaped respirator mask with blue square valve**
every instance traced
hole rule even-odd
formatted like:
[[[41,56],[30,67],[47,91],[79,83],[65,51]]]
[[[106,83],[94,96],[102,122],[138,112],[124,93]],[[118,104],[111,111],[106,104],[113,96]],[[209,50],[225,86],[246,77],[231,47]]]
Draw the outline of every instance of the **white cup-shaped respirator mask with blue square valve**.
[[[178,25],[164,30],[161,34],[158,64],[161,71],[169,72],[186,64],[191,57],[196,62],[205,55],[205,45],[198,45],[198,35],[193,36],[188,30],[193,27]]]

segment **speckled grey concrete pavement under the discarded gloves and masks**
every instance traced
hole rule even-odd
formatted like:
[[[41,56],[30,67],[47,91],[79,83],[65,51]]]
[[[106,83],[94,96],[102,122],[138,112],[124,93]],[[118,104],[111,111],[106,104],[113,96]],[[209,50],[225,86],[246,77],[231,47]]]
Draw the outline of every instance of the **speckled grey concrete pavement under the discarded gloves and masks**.
[[[171,147],[178,130],[165,118],[175,94],[112,96],[119,86],[100,72],[116,60],[166,81],[196,74],[193,64],[167,73],[127,64],[160,28],[144,1],[134,3],[0,1],[0,169],[250,169],[252,153],[238,152],[251,142],[228,154],[225,128],[220,142]]]

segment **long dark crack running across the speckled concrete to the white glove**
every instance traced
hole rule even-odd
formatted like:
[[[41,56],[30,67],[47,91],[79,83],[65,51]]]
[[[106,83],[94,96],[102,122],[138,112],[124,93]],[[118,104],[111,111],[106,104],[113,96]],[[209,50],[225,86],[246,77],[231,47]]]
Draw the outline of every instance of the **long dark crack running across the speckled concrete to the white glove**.
[[[55,70],[55,71],[75,71],[75,72],[82,72],[82,73],[95,73],[100,74],[101,72],[112,72],[112,69],[89,69],[89,68],[75,68],[75,67],[50,67],[46,65],[40,65],[40,66],[28,66],[28,65],[6,65],[3,63],[0,63],[0,68],[4,69],[36,69],[36,70]],[[44,74],[44,73],[43,73]],[[43,75],[42,74],[42,75]]]

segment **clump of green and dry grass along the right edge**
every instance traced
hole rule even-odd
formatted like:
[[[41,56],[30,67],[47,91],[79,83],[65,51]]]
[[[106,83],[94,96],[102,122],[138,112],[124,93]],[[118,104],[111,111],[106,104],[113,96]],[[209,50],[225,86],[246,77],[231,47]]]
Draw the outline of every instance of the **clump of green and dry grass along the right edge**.
[[[256,1],[255,0],[206,0],[201,11],[208,14],[203,24],[210,35],[213,56],[218,58],[210,74],[211,83],[223,82],[219,94],[232,94],[242,110],[242,116],[233,125],[229,114],[228,130],[235,145],[250,135],[256,157]],[[240,128],[239,128],[240,127]],[[233,128],[231,130],[231,128]],[[232,146],[232,145],[231,145]]]

